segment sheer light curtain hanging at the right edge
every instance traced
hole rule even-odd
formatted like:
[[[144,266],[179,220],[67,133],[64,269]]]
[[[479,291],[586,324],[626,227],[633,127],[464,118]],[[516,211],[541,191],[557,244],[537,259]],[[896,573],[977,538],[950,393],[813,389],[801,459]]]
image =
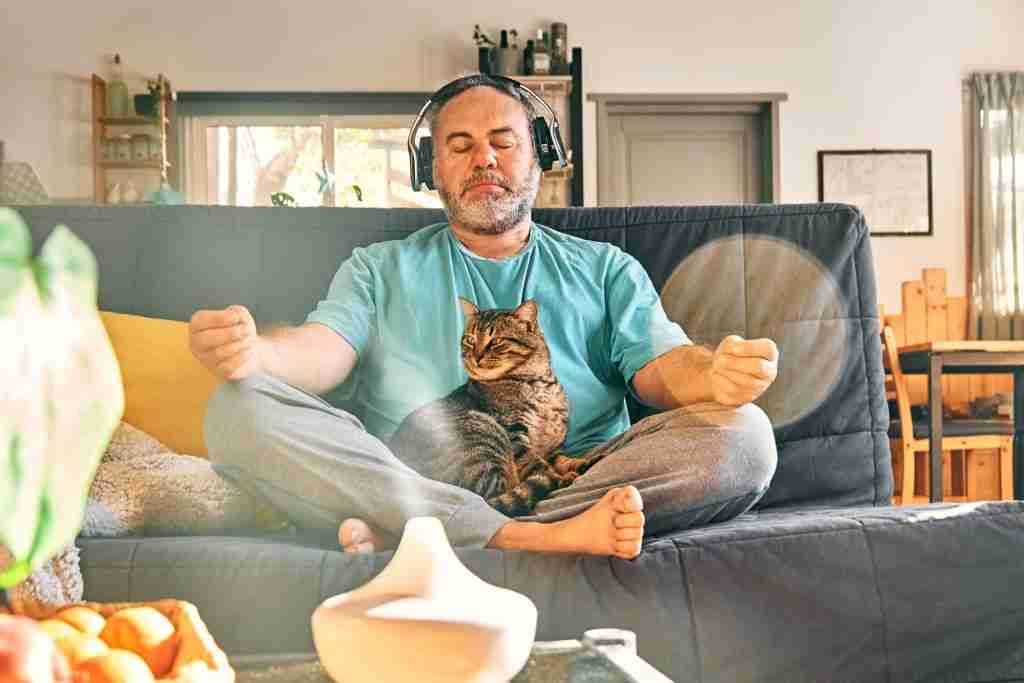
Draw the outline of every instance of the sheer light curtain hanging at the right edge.
[[[975,74],[972,339],[1024,339],[1024,72]]]

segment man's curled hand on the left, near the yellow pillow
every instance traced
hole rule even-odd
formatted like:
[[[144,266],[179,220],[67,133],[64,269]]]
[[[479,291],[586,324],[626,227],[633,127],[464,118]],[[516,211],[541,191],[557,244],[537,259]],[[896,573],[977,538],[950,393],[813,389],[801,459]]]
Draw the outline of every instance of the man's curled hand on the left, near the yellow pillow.
[[[199,310],[188,322],[188,348],[221,379],[241,380],[261,372],[262,344],[256,322],[245,306]]]

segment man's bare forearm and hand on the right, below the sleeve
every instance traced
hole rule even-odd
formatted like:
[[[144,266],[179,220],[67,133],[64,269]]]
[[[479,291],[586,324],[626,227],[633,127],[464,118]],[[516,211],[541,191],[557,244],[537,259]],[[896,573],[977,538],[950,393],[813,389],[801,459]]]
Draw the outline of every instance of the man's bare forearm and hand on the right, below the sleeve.
[[[662,410],[705,401],[742,405],[764,393],[777,374],[775,342],[729,335],[714,351],[686,345],[659,355],[633,376],[633,390]]]

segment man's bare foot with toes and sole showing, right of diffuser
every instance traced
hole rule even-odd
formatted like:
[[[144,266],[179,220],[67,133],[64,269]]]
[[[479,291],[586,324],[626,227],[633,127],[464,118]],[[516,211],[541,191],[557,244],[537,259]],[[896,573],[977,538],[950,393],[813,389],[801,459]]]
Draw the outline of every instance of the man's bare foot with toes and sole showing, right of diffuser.
[[[612,488],[575,517],[550,524],[511,521],[490,540],[492,548],[612,555],[632,559],[643,543],[643,499],[636,486]]]

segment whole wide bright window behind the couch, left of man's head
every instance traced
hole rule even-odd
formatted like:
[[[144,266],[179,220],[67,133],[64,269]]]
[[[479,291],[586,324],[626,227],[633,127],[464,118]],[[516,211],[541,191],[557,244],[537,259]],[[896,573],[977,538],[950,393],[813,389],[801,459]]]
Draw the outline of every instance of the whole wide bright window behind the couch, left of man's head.
[[[286,193],[303,207],[440,207],[436,191],[410,185],[411,118],[188,117],[181,155],[187,201],[271,206],[272,195]],[[321,191],[325,169],[334,184]]]

